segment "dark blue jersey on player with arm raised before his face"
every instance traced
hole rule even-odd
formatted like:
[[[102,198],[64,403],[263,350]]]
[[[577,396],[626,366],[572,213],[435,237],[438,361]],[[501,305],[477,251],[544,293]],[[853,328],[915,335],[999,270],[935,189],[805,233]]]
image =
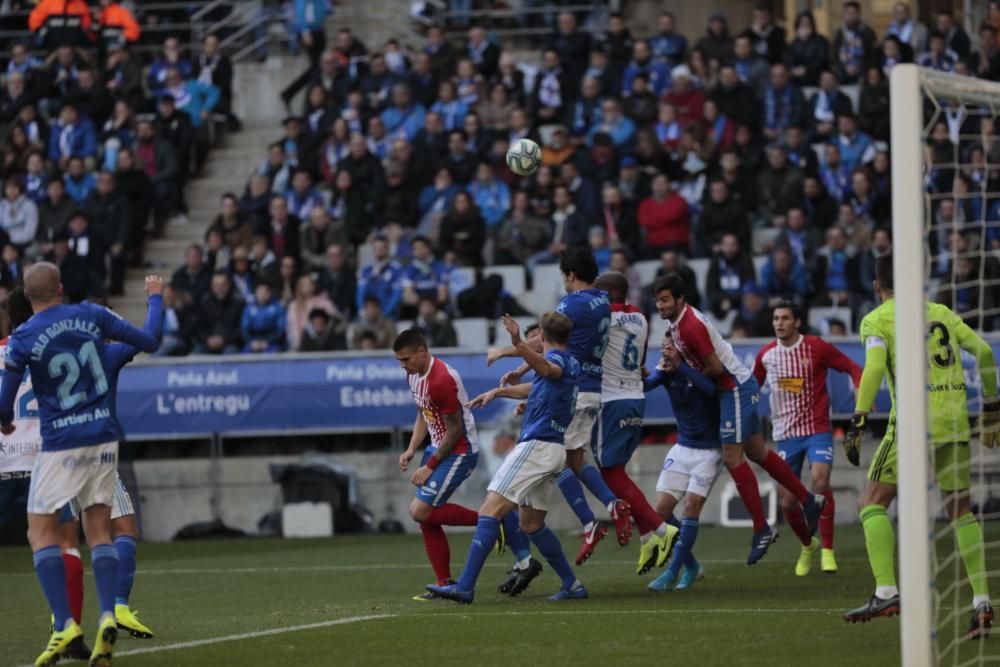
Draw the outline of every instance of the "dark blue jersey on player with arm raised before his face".
[[[693,449],[718,449],[719,398],[714,383],[685,363],[667,373],[659,368],[643,381],[649,392],[664,387],[677,419],[677,443]]]

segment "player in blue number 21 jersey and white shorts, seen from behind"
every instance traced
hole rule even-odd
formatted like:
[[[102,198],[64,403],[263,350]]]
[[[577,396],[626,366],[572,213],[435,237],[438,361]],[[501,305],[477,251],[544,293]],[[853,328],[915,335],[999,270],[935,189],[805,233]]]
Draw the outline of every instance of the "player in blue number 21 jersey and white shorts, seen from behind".
[[[54,629],[36,667],[54,665],[79,637],[70,615],[66,571],[59,549],[59,516],[71,500],[83,509],[100,608],[91,667],[111,664],[118,637],[114,597],[118,553],[111,544],[111,505],[118,461],[118,429],[112,413],[105,339],[140,350],[156,349],[156,337],[106,308],[62,303],[59,269],[40,262],[24,275],[34,316],[10,337],[0,383],[0,432],[14,432],[14,401],[30,370],[42,420],[42,451],[28,493],[28,540],[35,571],[54,616]]]

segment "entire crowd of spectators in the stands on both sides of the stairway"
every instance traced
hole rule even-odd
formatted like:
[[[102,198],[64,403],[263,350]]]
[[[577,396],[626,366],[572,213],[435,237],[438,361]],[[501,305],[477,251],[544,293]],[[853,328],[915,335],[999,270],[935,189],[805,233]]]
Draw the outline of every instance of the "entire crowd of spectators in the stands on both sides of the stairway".
[[[433,25],[416,50],[396,40],[370,49],[347,28],[326,34],[326,0],[293,4],[310,65],[281,91],[287,116],[245,189],[221,198],[204,244],[174,275],[161,354],[386,348],[401,321],[447,345],[454,317],[519,311],[518,295],[484,267],[523,264],[537,289],[532,274],[579,244],[602,269],[626,272],[646,308],[634,267],[655,260],[688,277],[691,302],[720,319],[735,313],[733,335],[770,333],[768,305],[786,299],[846,309],[833,329],[849,331],[874,304],[874,259],[892,245],[889,71],[918,62],[1000,80],[998,0],[973,36],[947,10],[925,26],[904,2],[884,34],[856,2],[843,4],[830,35],[809,12],[786,30],[764,6],[746,27],[713,14],[698,37],[663,12],[645,39],[618,14],[595,32],[564,12],[537,55],[515,55],[475,24],[461,40]],[[15,52],[0,122],[15,120],[5,173],[13,152],[23,176],[5,179],[5,260],[80,255],[72,239],[83,233],[102,259],[83,257],[76,270],[106,267],[114,290],[120,267],[141,257],[142,231],[132,195],[117,209],[124,231],[105,229],[108,188],[146,188],[157,212],[183,210],[183,184],[206,147],[191,137],[205,112],[229,111],[231,90],[215,75],[231,68],[213,39],[190,61],[168,40],[145,77],[121,40],[102,67],[59,50],[31,66],[48,97],[22,106],[22,91],[38,84],[17,76],[30,57]],[[143,111],[152,115],[136,123]],[[996,300],[969,281],[997,271],[981,251],[1000,248],[1000,204],[974,196],[1000,192],[996,119],[954,105],[928,118],[934,275],[965,285],[941,296],[975,317]],[[504,155],[525,137],[544,152],[522,178]],[[158,177],[159,188],[131,176],[125,186],[121,172]],[[28,200],[35,234],[6,222],[33,208]],[[80,219],[81,210],[102,215]],[[69,232],[45,237],[46,216]],[[708,263],[702,284],[695,259]],[[995,319],[976,323],[991,329]]]

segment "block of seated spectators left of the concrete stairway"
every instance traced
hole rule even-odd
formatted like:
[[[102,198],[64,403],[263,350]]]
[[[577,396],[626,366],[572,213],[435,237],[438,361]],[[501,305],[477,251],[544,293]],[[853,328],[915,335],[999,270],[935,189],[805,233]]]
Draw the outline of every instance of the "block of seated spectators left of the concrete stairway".
[[[169,36],[144,75],[143,27],[114,0],[25,9],[4,22],[27,30],[4,54],[0,90],[0,289],[44,259],[68,300],[104,301],[146,266],[148,237],[187,222],[214,114],[234,120],[232,67],[215,36],[191,54]]]

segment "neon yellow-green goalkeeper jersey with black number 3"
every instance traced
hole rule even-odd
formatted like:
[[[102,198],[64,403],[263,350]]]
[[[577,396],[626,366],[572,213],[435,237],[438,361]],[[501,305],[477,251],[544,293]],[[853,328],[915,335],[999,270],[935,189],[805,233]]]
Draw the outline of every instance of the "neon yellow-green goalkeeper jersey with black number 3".
[[[972,352],[979,362],[986,396],[996,394],[996,369],[993,351],[950,308],[939,303],[927,303],[927,393],[930,442],[969,442],[969,408],[962,368],[961,350]],[[892,398],[890,419],[896,418],[896,300],[887,299],[861,321],[861,342],[865,346],[866,365],[873,351],[884,348],[885,371]],[[879,381],[881,378],[879,378]],[[874,391],[858,392],[858,411],[868,412],[874,402]],[[867,394],[867,395],[866,395]],[[868,402],[868,405],[863,405]]]

